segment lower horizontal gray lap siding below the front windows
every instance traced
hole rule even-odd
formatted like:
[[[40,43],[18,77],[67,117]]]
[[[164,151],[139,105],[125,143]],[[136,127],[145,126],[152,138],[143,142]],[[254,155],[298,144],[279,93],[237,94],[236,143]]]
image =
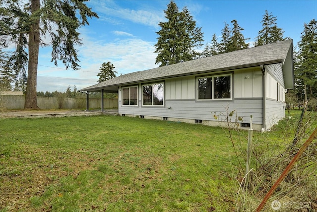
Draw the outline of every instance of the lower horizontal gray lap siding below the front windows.
[[[248,104],[246,104],[248,102]],[[141,101],[140,101],[141,103]],[[119,107],[119,113],[131,116],[142,116],[143,118],[153,118],[163,120],[164,117],[169,121],[180,121],[187,123],[195,123],[196,120],[202,120],[203,124],[212,126],[226,126],[226,114],[235,108],[237,115],[243,117],[243,121],[250,123],[250,114],[253,115],[253,123],[255,130],[262,128],[262,99],[236,99],[234,105],[228,103],[208,103],[202,102],[199,105],[192,100],[165,100],[166,107],[164,108],[145,108],[135,106],[133,109],[128,107]],[[119,102],[119,105],[120,102]],[[256,106],[256,107],[255,107]],[[170,107],[170,109],[168,109]],[[248,108],[249,107],[249,108]],[[248,110],[248,112],[245,112]],[[217,118],[215,118],[215,116]],[[236,121],[236,117],[232,118],[232,123]]]

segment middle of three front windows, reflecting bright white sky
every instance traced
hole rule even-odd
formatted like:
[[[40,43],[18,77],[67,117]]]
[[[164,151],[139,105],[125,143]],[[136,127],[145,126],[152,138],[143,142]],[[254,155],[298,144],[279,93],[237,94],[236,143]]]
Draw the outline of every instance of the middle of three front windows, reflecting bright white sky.
[[[143,105],[164,105],[164,83],[143,85]]]

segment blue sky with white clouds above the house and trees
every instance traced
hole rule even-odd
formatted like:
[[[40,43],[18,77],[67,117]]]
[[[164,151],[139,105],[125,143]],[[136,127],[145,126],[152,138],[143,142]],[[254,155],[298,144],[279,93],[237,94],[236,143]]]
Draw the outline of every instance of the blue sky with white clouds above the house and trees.
[[[40,49],[37,91],[65,92],[82,89],[97,83],[97,74],[103,62],[110,61],[114,71],[126,74],[154,67],[160,30],[159,22],[166,21],[164,10],[169,0],[91,0],[87,3],[97,12],[99,19],[89,20],[90,25],[80,29],[83,46],[78,47],[80,70],[65,70],[62,63],[55,67],[51,61],[51,48]],[[254,42],[262,29],[261,20],[268,10],[277,17],[277,26],[284,30],[284,37],[297,45],[304,23],[317,19],[316,0],[174,0],[179,9],[188,8],[202,27],[204,45],[215,33],[221,36],[224,22],[236,19],[245,38]],[[45,38],[48,39],[48,38]],[[219,38],[219,41],[221,38]]]

